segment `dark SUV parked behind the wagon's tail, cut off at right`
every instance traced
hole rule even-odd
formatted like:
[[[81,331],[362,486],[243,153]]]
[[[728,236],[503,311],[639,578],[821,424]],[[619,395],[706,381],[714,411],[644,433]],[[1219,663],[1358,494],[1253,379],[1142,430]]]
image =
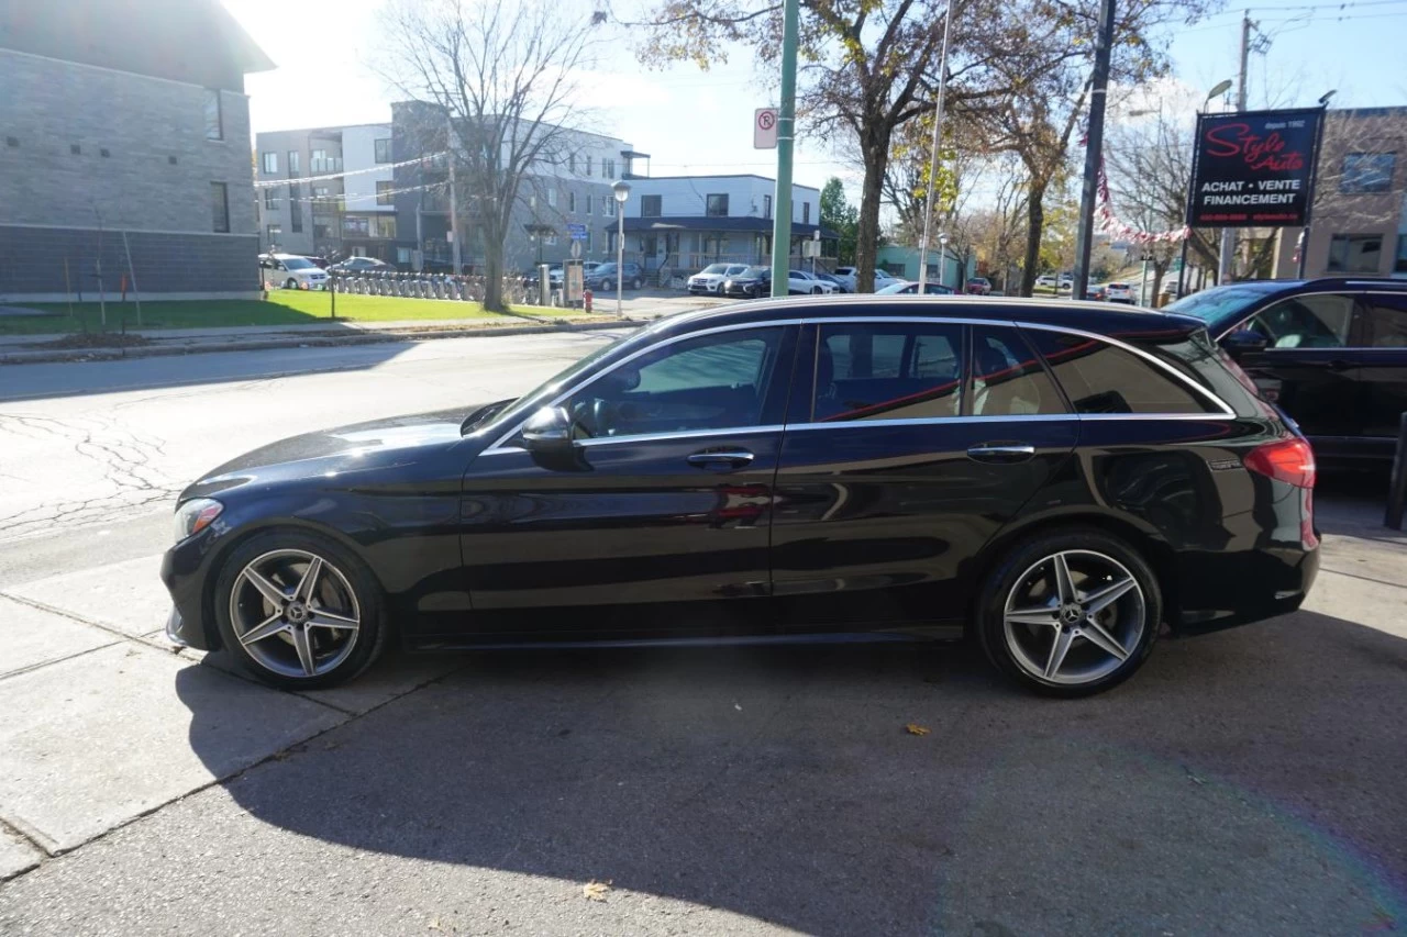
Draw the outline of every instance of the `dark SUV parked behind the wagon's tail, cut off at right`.
[[[1166,311],[1206,322],[1321,460],[1392,460],[1407,411],[1407,283],[1234,283]]]

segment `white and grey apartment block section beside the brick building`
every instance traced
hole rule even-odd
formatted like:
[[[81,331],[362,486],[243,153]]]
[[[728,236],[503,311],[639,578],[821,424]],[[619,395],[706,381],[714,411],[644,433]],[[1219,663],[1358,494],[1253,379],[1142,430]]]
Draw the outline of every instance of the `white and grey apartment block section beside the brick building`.
[[[263,132],[255,163],[265,250],[395,262],[390,124]]]

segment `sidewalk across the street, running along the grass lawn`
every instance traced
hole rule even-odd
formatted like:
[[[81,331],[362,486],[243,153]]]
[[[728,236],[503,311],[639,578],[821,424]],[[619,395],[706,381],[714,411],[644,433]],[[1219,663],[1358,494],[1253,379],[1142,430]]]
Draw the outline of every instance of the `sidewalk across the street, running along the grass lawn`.
[[[424,300],[456,305],[450,300]],[[439,338],[480,335],[521,335],[529,332],[591,331],[636,326],[642,322],[705,310],[716,305],[711,297],[637,295],[625,300],[623,318],[616,318],[615,302],[598,304],[595,312],[567,314],[567,310],[543,311],[523,307],[495,318],[407,319],[401,322],[359,322],[325,319],[298,325],[243,325],[205,329],[129,329],[134,345],[56,346],[63,335],[0,335],[0,364],[45,362],[83,362],[120,357],[155,357],[162,355],[198,355],[203,352],[243,352],[300,345],[359,345],[367,342],[418,342]]]

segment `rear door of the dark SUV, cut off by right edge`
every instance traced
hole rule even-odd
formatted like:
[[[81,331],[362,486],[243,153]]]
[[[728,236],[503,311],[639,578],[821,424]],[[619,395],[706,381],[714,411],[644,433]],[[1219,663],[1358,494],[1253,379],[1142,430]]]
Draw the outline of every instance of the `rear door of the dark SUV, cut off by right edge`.
[[[1407,293],[1365,293],[1359,312],[1362,454],[1392,459],[1407,412]]]

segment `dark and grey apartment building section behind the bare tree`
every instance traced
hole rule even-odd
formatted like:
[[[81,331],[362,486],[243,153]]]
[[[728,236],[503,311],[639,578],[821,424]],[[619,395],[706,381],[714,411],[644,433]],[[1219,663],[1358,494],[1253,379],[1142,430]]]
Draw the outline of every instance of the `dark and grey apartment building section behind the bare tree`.
[[[421,101],[391,106],[394,160],[416,160],[446,151],[446,122],[442,111]],[[605,260],[612,248],[604,232],[615,218],[611,186],[633,179],[640,153],[622,139],[585,131],[568,131],[518,193],[515,219],[504,248],[505,269],[526,270],[539,260],[554,263],[571,256],[568,224],[587,228],[582,257]],[[440,159],[409,163],[395,170],[397,263],[412,267],[449,269],[449,165]],[[474,207],[461,204],[459,221],[464,243],[460,263],[466,270],[483,266],[481,235]]]

